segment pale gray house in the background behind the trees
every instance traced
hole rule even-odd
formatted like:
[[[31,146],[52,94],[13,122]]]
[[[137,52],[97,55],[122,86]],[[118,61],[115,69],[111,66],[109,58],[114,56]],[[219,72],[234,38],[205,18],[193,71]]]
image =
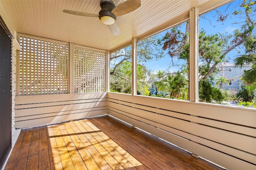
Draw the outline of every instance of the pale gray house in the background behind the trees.
[[[225,77],[229,80],[228,83],[225,83],[224,89],[240,89],[242,85],[242,80],[240,79],[244,71],[250,69],[250,66],[246,67],[235,67],[234,63],[225,63],[222,65],[221,71],[216,74],[215,79],[218,77]],[[216,86],[216,82],[214,81],[214,86]]]

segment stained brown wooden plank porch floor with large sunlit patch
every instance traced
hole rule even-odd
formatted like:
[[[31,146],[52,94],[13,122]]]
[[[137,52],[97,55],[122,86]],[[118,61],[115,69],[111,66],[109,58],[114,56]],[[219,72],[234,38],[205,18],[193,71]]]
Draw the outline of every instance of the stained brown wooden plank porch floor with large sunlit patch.
[[[5,170],[217,170],[109,116],[23,129]]]

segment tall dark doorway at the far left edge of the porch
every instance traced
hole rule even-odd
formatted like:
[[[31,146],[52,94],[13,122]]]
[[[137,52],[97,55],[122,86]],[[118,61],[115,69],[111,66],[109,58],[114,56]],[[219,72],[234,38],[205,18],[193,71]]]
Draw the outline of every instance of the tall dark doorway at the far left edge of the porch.
[[[0,168],[12,146],[12,35],[0,16]]]

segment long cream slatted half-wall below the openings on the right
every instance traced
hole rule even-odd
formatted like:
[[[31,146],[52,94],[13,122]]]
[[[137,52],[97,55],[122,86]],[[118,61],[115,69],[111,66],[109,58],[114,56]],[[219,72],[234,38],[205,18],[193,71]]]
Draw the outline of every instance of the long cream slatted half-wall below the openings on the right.
[[[228,169],[256,169],[254,109],[108,93],[108,114]]]

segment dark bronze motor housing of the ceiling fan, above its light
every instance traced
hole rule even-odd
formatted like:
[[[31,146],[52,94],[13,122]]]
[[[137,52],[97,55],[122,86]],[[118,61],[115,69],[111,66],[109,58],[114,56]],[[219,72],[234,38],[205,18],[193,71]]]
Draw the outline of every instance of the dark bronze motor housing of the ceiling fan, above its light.
[[[116,4],[113,0],[100,0],[101,10],[99,12],[99,18],[103,16],[110,16],[116,20],[116,16],[111,13],[111,11],[116,7]]]

